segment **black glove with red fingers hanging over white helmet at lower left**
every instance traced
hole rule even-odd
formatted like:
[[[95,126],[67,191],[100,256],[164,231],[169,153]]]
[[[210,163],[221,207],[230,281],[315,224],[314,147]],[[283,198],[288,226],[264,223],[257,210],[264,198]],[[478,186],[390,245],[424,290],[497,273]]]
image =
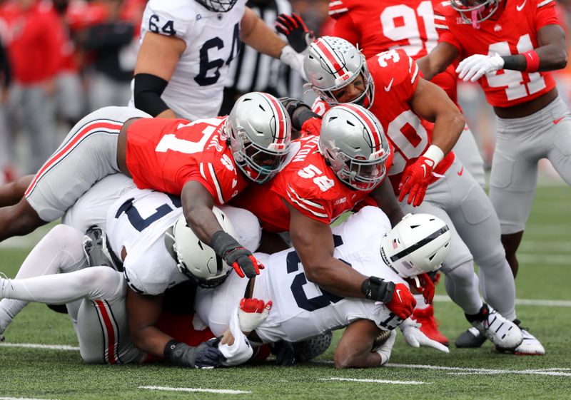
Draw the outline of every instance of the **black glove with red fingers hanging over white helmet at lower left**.
[[[263,265],[256,260],[256,257],[223,230],[212,235],[210,247],[226,264],[231,265],[241,278],[244,276],[253,278],[260,275],[260,270],[263,270]]]

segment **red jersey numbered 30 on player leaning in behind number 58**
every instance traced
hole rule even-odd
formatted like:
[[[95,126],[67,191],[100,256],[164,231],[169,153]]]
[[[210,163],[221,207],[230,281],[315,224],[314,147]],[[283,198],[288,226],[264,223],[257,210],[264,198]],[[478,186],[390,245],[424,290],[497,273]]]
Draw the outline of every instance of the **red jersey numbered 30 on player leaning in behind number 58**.
[[[370,111],[383,125],[393,146],[393,165],[388,171],[395,193],[407,165],[414,163],[432,142],[433,123],[420,119],[410,108],[410,101],[418,85],[418,66],[404,50],[391,50],[367,60],[375,82],[375,98]],[[319,99],[313,103],[315,113],[328,110]],[[434,172],[443,175],[453,163],[454,153],[445,155]],[[433,176],[431,183],[438,179]]]

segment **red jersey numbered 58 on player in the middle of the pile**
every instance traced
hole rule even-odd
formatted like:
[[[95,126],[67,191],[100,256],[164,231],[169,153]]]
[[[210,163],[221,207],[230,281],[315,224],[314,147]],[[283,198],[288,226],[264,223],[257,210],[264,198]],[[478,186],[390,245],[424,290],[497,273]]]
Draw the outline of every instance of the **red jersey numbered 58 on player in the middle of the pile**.
[[[263,185],[250,185],[232,205],[253,212],[263,229],[270,232],[290,229],[290,211],[284,201],[325,224],[353,209],[371,191],[353,190],[341,182],[319,153],[318,140],[318,136],[310,135],[293,141],[298,150],[276,178]]]

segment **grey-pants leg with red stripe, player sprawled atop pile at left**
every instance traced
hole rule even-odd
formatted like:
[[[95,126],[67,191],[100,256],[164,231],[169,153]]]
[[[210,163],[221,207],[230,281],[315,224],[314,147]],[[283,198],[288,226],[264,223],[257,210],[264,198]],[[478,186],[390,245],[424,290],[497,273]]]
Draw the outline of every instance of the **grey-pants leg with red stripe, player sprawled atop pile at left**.
[[[118,173],[118,133],[125,120],[136,116],[147,114],[128,107],[107,107],[80,120],[34,177],[22,200],[24,205],[0,209],[0,240],[31,232],[34,224],[37,227],[56,220],[91,185]],[[26,217],[25,223],[18,222]]]

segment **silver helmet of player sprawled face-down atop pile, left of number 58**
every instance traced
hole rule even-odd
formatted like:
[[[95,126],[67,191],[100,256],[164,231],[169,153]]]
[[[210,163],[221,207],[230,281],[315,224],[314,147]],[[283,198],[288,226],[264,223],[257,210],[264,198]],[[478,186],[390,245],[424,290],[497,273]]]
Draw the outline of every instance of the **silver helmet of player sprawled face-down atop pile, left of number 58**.
[[[254,182],[264,183],[278,173],[288,155],[290,117],[274,96],[246,93],[230,111],[222,136],[230,140],[238,168]]]

